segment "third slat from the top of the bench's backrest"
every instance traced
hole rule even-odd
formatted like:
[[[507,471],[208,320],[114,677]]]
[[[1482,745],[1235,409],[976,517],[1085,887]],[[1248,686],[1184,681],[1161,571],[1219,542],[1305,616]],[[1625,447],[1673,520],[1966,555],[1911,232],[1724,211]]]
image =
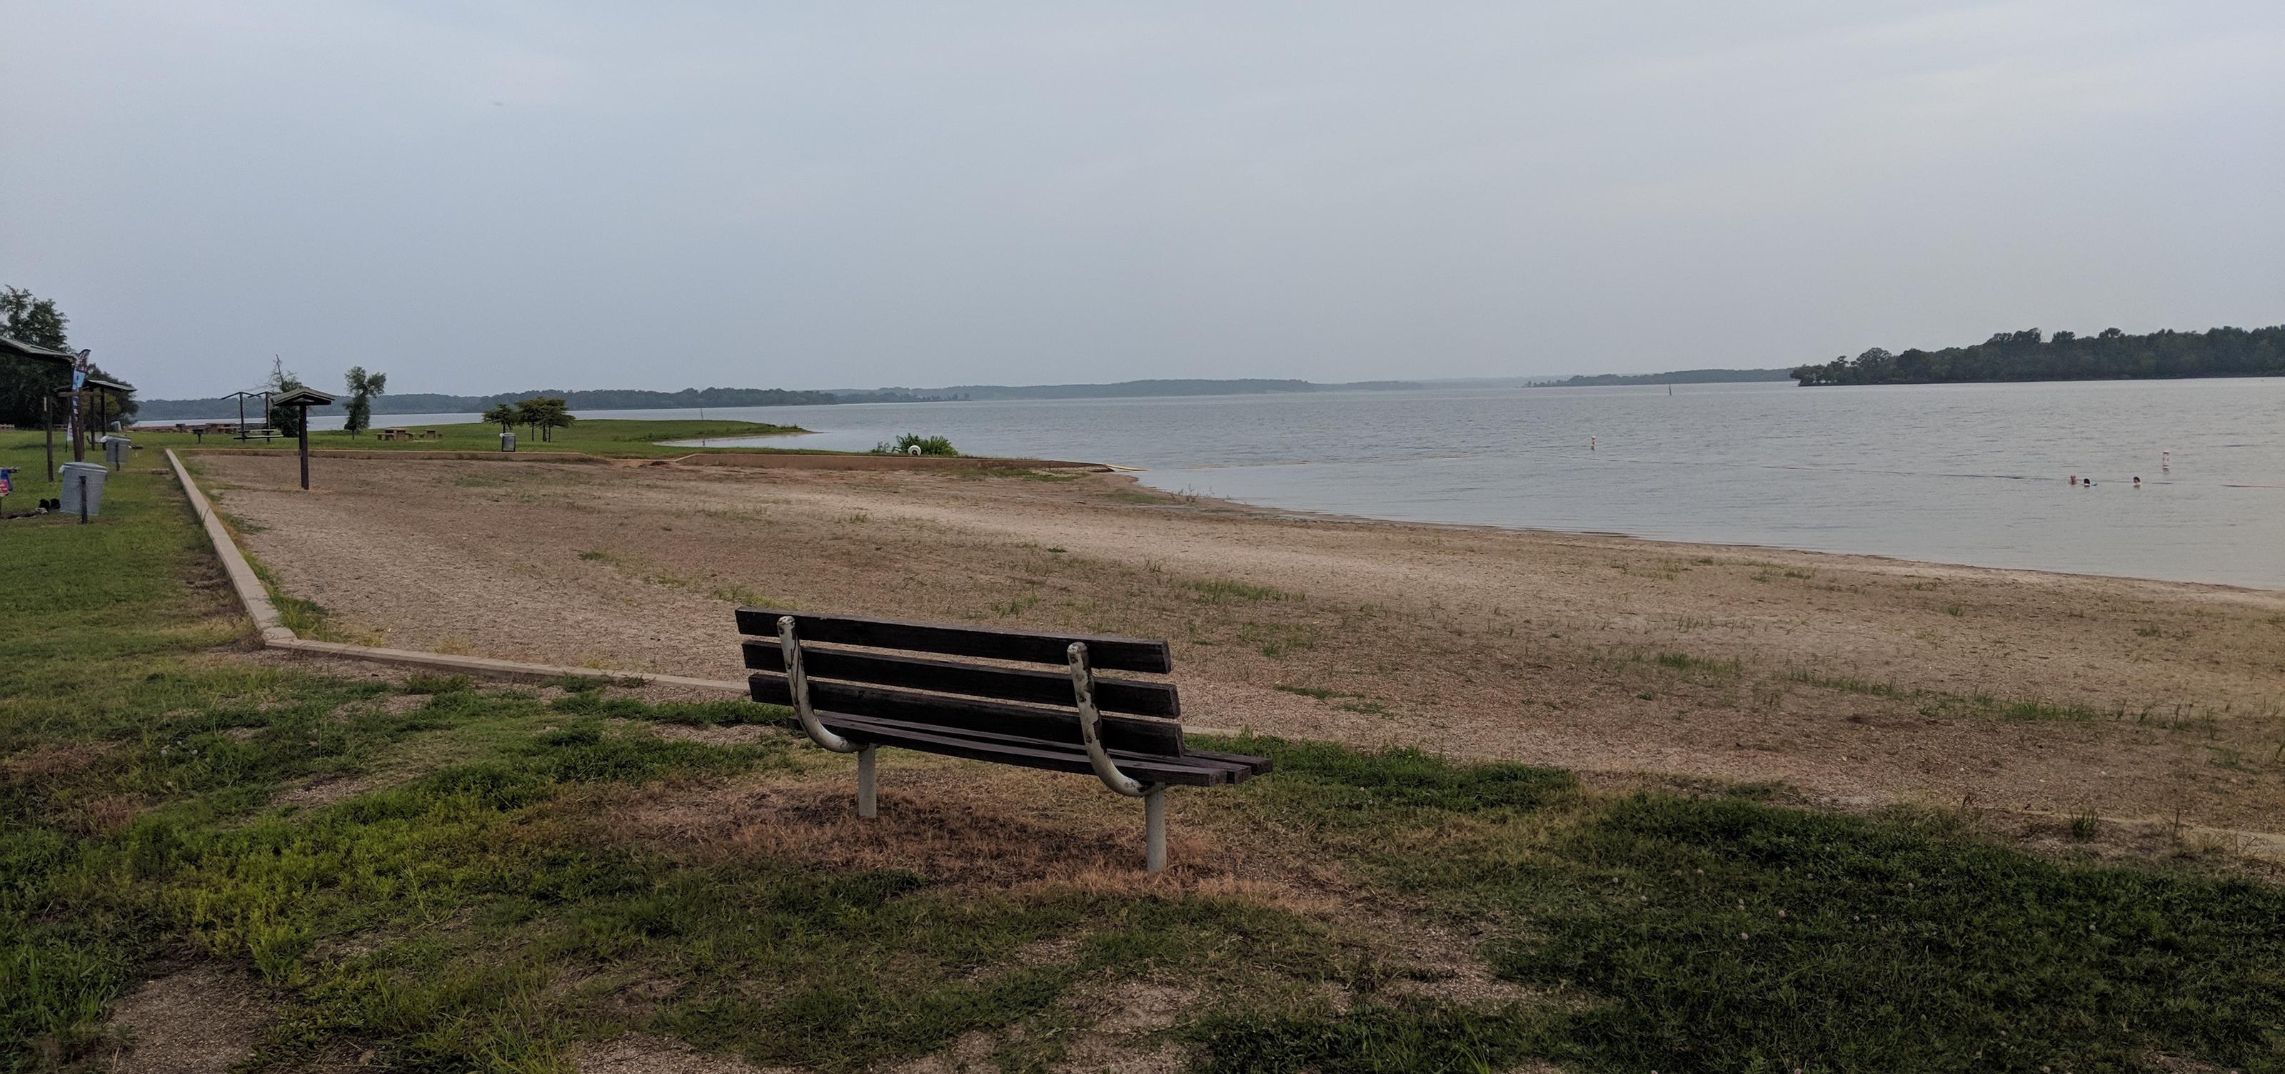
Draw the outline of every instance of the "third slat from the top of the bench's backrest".
[[[809,656],[804,651],[804,656]],[[793,704],[793,688],[784,674],[747,676],[749,695],[763,704]],[[985,702],[976,697],[916,695],[909,690],[884,690],[873,686],[809,681],[809,704],[820,711],[868,715],[880,720],[907,720],[921,724],[944,724],[960,731],[992,731],[1049,743],[1079,743],[1079,713],[1072,708],[1033,708],[1024,704]],[[1106,750],[1133,750],[1138,754],[1181,756],[1181,724],[1165,720],[1138,720],[1131,715],[1106,715],[1097,722]]]

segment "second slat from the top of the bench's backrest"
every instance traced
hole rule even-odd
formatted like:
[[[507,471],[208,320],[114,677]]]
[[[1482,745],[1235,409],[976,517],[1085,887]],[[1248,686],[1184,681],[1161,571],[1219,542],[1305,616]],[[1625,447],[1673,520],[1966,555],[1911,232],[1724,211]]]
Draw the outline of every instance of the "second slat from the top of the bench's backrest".
[[[784,672],[786,654],[775,640],[749,640],[745,642],[745,665],[756,672]],[[1072,676],[1067,672],[818,649],[807,638],[802,640],[802,667],[811,679],[905,686],[948,695],[996,697],[1001,702],[1072,704]],[[1095,706],[1106,713],[1181,715],[1181,697],[1174,692],[1174,683],[1142,683],[1133,679],[1095,679]]]

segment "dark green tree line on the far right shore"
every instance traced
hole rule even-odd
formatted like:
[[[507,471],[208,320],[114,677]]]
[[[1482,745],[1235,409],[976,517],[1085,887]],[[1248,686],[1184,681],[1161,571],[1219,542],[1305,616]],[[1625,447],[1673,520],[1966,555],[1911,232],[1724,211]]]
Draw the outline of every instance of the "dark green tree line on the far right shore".
[[[2285,375],[2285,324],[2210,331],[2159,329],[2093,336],[2038,329],[1999,331],[1970,347],[1871,347],[1823,366],[1801,366],[1794,377],[1817,384],[1954,384],[2009,379],[2159,379],[2159,377],[2271,377]]]

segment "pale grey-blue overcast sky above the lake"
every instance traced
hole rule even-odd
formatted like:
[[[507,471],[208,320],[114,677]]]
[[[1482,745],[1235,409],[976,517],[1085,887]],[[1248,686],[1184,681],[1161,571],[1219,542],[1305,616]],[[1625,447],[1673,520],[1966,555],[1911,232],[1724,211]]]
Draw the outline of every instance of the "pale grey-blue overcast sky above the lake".
[[[2285,5],[23,2],[146,395],[1794,366],[2285,322]]]

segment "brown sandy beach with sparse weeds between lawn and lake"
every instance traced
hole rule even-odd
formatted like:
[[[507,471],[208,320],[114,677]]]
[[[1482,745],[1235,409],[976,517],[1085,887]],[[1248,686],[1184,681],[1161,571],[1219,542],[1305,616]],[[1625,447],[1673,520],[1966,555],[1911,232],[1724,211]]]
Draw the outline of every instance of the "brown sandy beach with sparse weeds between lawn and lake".
[[[1113,473],[199,455],[336,633],[738,679],[738,603],[1170,638],[1193,724],[2285,832],[2285,594],[1307,519]]]

